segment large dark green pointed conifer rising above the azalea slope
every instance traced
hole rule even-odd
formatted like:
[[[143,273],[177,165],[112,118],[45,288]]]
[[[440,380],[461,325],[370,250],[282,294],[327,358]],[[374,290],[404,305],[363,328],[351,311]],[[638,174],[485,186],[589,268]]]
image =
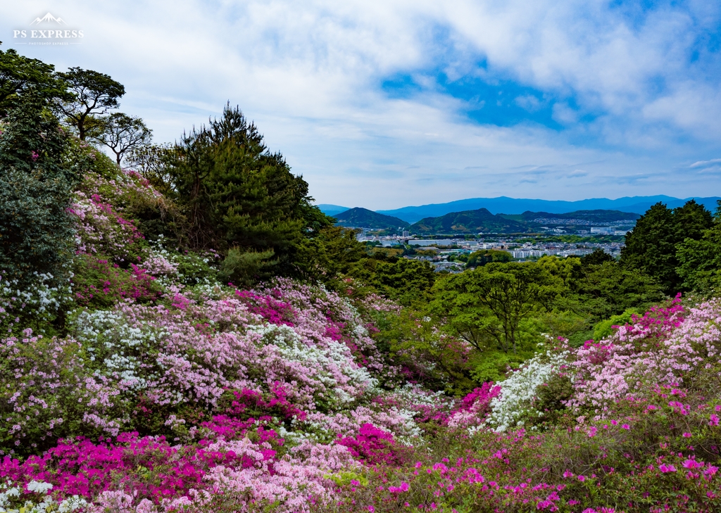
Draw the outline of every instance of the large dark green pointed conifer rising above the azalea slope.
[[[192,247],[273,251],[276,273],[298,274],[298,248],[325,216],[310,205],[304,179],[291,174],[280,153],[267,151],[238,108],[226,106],[220,119],[184,135],[164,159],[164,174],[156,178],[169,180]]]

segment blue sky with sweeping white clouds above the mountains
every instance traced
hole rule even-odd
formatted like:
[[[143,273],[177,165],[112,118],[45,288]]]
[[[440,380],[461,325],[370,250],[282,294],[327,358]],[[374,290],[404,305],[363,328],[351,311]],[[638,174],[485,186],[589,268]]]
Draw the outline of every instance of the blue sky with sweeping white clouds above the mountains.
[[[13,37],[48,12],[84,37]],[[3,1],[0,40],[158,143],[238,105],[319,203],[721,196],[718,1]]]

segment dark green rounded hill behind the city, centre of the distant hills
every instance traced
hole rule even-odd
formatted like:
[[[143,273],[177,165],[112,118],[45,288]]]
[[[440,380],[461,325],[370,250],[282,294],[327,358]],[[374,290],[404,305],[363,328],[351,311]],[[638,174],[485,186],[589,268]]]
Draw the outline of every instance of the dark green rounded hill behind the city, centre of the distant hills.
[[[485,208],[424,218],[411,226],[413,233],[517,233],[526,230],[525,223],[493,215]]]

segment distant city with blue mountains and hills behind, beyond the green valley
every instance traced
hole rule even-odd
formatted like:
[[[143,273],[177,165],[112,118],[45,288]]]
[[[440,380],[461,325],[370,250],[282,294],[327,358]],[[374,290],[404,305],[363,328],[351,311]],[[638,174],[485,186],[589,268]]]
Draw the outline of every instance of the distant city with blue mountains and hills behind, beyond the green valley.
[[[694,199],[712,211],[721,200]],[[358,240],[369,246],[403,249],[404,258],[426,261],[437,272],[457,273],[465,269],[469,254],[482,249],[508,251],[520,262],[544,255],[583,257],[596,249],[618,258],[625,235],[647,208],[656,202],[677,207],[688,200],[653,196],[554,202],[501,197],[376,212],[339,205],[319,208],[338,225],[357,229]],[[606,208],[598,208],[601,205]],[[627,210],[616,210],[624,205]],[[453,210],[466,206],[476,208]],[[520,210],[527,206],[543,210]],[[521,213],[503,213],[501,208]]]

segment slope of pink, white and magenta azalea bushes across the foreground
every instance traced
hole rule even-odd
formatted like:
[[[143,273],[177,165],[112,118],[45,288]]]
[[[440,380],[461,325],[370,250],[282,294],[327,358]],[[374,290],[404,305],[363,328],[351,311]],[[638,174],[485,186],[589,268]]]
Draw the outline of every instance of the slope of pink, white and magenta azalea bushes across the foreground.
[[[717,300],[547,339],[453,397],[422,376],[463,341],[406,365],[383,342],[394,303],[221,285],[215,252],[147,240],[138,203],[172,208],[134,171],[88,174],[74,275],[1,284],[0,512],[721,508]]]

